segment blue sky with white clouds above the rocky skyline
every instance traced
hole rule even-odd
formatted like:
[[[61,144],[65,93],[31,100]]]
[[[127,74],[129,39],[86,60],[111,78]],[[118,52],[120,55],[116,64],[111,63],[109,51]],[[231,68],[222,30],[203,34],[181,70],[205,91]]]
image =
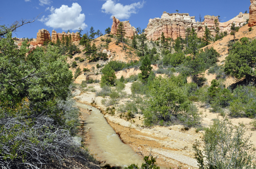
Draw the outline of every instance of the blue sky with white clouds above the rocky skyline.
[[[54,29],[76,32],[83,28],[82,34],[94,30],[104,30],[112,25],[113,15],[121,21],[130,20],[132,26],[146,28],[150,18],[168,13],[189,13],[199,18],[199,14],[220,15],[221,22],[237,16],[239,12],[249,13],[249,0],[8,0],[1,2],[0,25],[10,25],[16,20],[33,19],[40,13],[40,19],[20,27],[13,34],[17,38],[36,38],[39,29]]]

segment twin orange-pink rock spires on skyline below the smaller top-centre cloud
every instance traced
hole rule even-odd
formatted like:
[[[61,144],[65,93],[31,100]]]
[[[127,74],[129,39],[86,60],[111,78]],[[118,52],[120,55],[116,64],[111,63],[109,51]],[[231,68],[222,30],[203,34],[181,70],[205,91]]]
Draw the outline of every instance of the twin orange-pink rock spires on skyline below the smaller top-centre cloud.
[[[116,35],[119,23],[120,23],[120,20],[115,18],[115,16],[113,16],[113,24],[111,27],[110,34]],[[122,23],[126,33],[125,37],[132,38],[134,34],[137,34],[136,28],[129,23],[129,20],[122,21]]]

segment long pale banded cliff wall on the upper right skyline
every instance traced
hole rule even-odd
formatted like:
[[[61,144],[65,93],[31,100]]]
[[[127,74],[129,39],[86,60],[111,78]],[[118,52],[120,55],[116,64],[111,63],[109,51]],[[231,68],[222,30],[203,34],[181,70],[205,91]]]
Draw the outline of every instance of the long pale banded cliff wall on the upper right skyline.
[[[255,0],[256,1],[256,0]],[[154,18],[148,21],[147,27],[145,29],[145,34],[148,40],[158,40],[161,37],[162,32],[164,33],[165,38],[173,38],[174,40],[177,37],[185,38],[186,29],[192,27],[196,31],[198,37],[204,36],[205,26],[211,32],[212,36],[216,35],[215,29],[215,20],[220,27],[220,32],[227,31],[230,33],[231,24],[234,22],[236,25],[243,25],[246,22],[246,19],[249,18],[249,14],[240,13],[238,16],[233,19],[221,23],[218,20],[217,16],[204,16],[204,21],[196,21],[195,16],[189,16],[188,13],[167,13],[163,12],[161,18]]]

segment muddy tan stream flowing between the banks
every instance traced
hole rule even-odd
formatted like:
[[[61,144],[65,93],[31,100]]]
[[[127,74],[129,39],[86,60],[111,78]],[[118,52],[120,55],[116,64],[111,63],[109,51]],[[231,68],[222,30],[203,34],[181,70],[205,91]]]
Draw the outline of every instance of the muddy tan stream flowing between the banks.
[[[87,104],[76,103],[85,109],[92,109],[84,127],[90,127],[92,135],[89,149],[102,161],[115,166],[127,166],[142,163],[141,157],[131,147],[122,143],[115,130],[106,122],[100,110]]]

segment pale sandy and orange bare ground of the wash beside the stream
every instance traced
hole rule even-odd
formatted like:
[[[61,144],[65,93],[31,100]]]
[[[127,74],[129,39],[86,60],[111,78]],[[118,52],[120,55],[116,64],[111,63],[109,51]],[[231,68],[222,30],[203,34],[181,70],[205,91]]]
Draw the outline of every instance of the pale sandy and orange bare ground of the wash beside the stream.
[[[131,83],[126,83],[125,86],[124,91],[126,94],[131,94]],[[92,87],[96,91],[100,90],[98,83],[89,84],[87,88]],[[182,166],[183,168],[198,168],[197,161],[194,159],[192,146],[197,139],[200,140],[204,131],[197,132],[196,128],[185,130],[182,125],[144,127],[143,115],[136,114],[135,118],[126,121],[124,118],[120,118],[120,114],[118,113],[113,116],[105,114],[106,107],[101,103],[103,98],[100,96],[96,97],[95,94],[95,92],[81,92],[79,90],[73,93],[76,101],[93,105],[102,110],[105,119],[119,135],[122,142],[130,145],[135,152],[138,154],[142,153],[143,155],[152,154],[157,157],[157,164],[162,168],[177,168],[178,166]],[[122,99],[120,103],[129,99],[129,97]],[[93,101],[94,103],[91,104]],[[210,112],[209,108],[205,108],[200,103],[195,102],[194,104],[198,107],[199,114],[202,117],[202,127],[208,127],[214,119],[222,118],[218,114]],[[87,114],[90,114],[90,112],[87,112]],[[256,147],[256,131],[251,131],[249,125],[252,119],[230,118],[230,120],[233,125],[239,125],[241,122],[244,123],[247,128],[246,135],[252,134],[250,140],[253,147]],[[87,132],[83,132],[82,135],[90,138],[90,134]],[[90,139],[86,140],[85,144],[88,144],[88,142],[90,142]],[[95,158],[100,161],[104,160],[98,158],[97,155]]]

